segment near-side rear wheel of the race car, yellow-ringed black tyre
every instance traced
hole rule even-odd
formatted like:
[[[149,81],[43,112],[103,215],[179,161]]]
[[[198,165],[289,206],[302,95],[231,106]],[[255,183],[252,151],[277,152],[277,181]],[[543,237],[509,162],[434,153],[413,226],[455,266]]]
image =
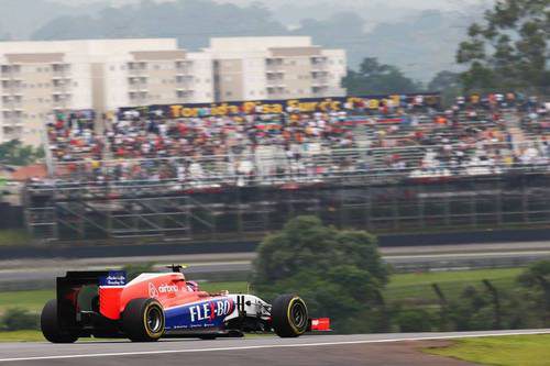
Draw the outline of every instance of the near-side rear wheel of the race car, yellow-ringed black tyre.
[[[164,309],[155,299],[133,299],[122,313],[122,329],[132,342],[155,342],[164,334]]]

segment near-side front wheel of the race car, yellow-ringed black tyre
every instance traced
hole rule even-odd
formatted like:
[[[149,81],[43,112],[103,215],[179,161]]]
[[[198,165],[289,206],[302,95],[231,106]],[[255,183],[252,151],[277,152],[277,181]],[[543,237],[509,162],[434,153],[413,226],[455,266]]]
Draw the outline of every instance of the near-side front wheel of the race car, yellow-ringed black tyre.
[[[308,329],[306,302],[296,295],[282,295],[272,303],[273,330],[284,339],[297,337]]]

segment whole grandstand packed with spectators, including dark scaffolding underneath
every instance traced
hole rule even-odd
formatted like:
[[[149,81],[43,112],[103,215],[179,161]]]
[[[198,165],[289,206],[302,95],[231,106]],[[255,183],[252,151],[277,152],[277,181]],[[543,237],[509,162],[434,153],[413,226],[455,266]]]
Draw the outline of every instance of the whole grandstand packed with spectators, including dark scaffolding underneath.
[[[224,115],[202,106],[185,118],[130,109],[100,129],[58,114],[51,179],[28,185],[29,226],[50,240],[219,240],[300,213],[375,232],[550,222],[547,104],[370,99]]]

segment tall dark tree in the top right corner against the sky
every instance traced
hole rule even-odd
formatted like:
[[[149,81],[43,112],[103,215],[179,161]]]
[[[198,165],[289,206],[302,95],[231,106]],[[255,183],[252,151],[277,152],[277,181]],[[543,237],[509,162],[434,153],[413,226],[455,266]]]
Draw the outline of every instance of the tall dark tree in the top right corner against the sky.
[[[498,0],[468,35],[457,53],[465,89],[550,87],[549,0]]]

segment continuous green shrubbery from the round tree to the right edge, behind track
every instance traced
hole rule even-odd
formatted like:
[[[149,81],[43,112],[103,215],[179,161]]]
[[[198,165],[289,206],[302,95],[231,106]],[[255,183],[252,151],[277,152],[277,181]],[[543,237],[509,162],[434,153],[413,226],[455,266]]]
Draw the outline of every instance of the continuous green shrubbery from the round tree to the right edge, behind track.
[[[315,217],[290,220],[258,247],[252,286],[266,299],[299,293],[314,317],[339,333],[477,331],[550,325],[550,262],[526,268],[512,288],[483,280],[460,293],[433,284],[439,304],[384,298],[391,268],[376,237],[326,226]]]

